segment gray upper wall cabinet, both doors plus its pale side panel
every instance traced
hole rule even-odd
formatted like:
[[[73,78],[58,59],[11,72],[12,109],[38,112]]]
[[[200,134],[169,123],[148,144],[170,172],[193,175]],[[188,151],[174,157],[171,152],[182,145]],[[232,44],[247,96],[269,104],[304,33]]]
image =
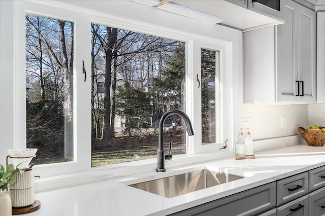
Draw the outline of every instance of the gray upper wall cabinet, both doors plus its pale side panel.
[[[243,33],[244,103],[316,102],[315,12],[282,1],[281,18]]]

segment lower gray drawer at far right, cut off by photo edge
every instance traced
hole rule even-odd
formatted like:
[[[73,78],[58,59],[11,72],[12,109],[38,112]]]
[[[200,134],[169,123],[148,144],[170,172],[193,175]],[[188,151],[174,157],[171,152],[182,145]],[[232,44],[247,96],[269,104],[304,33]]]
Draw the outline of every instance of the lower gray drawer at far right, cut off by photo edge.
[[[309,215],[325,215],[325,187],[309,194]]]

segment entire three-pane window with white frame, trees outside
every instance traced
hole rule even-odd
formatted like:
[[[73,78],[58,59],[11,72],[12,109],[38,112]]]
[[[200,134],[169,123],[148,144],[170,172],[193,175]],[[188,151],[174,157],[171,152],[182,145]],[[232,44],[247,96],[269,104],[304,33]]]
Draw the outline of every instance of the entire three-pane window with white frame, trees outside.
[[[131,1],[114,3],[124,8],[133,5]],[[3,146],[5,149],[25,148],[26,143],[28,148],[38,148],[34,170],[41,178],[92,170],[114,173],[115,167],[121,166],[127,170],[129,163],[124,162],[156,158],[157,122],[161,114],[170,109],[185,111],[192,122],[194,136],[188,137],[183,122],[177,116],[170,116],[164,128],[165,150],[169,141],[173,141],[173,155],[217,151],[218,143],[225,139],[229,140],[229,149],[232,148],[232,122],[236,118],[233,117],[233,92],[237,92],[233,82],[237,78],[232,77],[231,56],[232,51],[236,51],[233,47],[238,45],[237,31],[222,32],[224,27],[218,25],[202,28],[199,21],[193,20],[190,20],[191,27],[182,26],[184,29],[178,30],[168,22],[146,22],[148,20],[143,17],[136,21],[127,14],[117,16],[115,5],[107,8],[105,13],[93,13],[77,5],[65,6],[58,2],[38,1],[14,4],[15,19],[11,24],[15,35],[12,37],[8,33],[10,37],[6,39],[15,42],[14,86],[6,85],[8,97],[7,94],[6,98],[2,97],[2,101],[14,104],[10,111],[14,116],[14,130],[12,127],[5,129],[13,139],[5,144],[2,142],[2,150]],[[179,20],[175,22],[182,24]],[[31,26],[32,23],[37,24],[36,27]],[[64,28],[60,28],[60,23]],[[200,35],[194,29],[201,29]],[[221,29],[222,34],[216,29]],[[107,43],[109,33],[116,33],[112,44]],[[216,35],[223,41],[215,39]],[[66,48],[63,48],[63,42]],[[141,48],[144,49],[139,51]],[[210,71],[210,66],[215,67],[215,75],[211,75],[214,81],[204,77],[204,71],[201,71],[203,52],[211,55],[212,64],[202,65],[202,68]],[[107,61],[111,63],[107,64]],[[6,70],[10,70],[10,66]],[[111,78],[109,85],[106,83],[108,78]],[[201,82],[199,88],[197,79]],[[209,100],[202,100],[201,97],[205,97],[203,85],[211,82],[215,82],[215,87],[209,92],[215,93],[207,94]],[[1,80],[1,84],[4,83]],[[54,104],[54,100],[58,102]],[[201,124],[202,101],[208,101],[207,114],[212,119],[208,120],[207,129]],[[69,109],[65,109],[67,107]],[[34,119],[30,119],[31,115],[26,115],[26,111],[34,109],[43,111],[44,115],[55,114],[52,117],[57,117],[61,124],[52,125],[51,129],[57,129],[54,126],[61,128],[56,131],[55,139],[42,131],[37,135],[44,137],[40,138],[41,142],[33,141],[35,133],[32,132],[35,131],[30,130],[33,129],[30,125],[34,124]],[[112,115],[114,109],[115,116]],[[215,138],[201,145],[204,130]],[[103,139],[109,136],[114,141]],[[58,144],[53,145],[53,140]],[[44,153],[51,145],[57,149]],[[119,157],[121,152],[123,156]],[[108,164],[113,165],[102,166]]]

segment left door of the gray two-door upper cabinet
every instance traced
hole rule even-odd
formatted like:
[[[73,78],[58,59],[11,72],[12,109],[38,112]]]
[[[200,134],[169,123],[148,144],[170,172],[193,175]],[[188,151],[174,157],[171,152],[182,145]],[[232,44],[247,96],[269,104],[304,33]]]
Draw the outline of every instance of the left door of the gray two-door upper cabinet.
[[[297,102],[297,47],[296,35],[298,4],[291,1],[281,3],[284,24],[277,27],[277,102]]]

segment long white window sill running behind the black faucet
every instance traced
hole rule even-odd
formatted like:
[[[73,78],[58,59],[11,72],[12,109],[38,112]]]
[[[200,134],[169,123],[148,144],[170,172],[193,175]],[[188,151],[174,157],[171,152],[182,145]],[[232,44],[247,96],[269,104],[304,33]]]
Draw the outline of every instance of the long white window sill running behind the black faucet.
[[[176,155],[171,161],[165,162],[166,169],[179,166],[198,164],[207,161],[219,160],[233,157],[234,151],[220,150],[207,154]],[[65,175],[57,175],[35,179],[35,192],[48,191],[58,188],[71,187],[86,183],[93,183],[125,177],[128,175],[141,174],[145,172],[156,172],[157,159],[112,164],[107,166],[93,167],[90,171],[76,172]]]

